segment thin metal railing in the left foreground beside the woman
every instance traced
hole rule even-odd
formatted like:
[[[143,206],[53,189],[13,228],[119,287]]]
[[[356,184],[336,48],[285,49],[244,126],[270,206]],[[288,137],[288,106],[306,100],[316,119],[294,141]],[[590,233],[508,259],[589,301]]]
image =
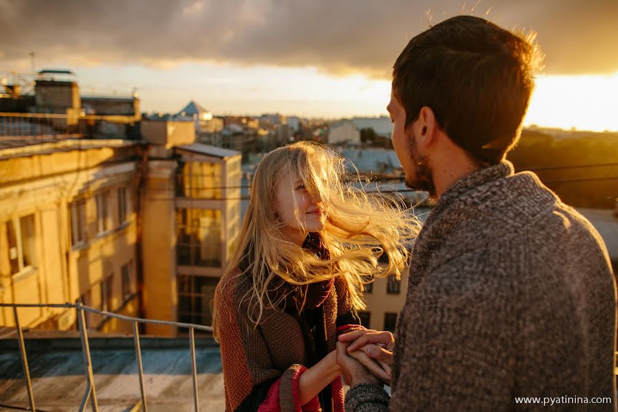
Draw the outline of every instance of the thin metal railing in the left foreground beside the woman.
[[[17,330],[17,340],[19,341],[19,353],[21,356],[21,363],[23,366],[23,373],[25,376],[26,387],[28,392],[28,400],[30,402],[30,410],[36,411],[35,403],[34,403],[34,393],[32,393],[32,381],[30,380],[30,368],[28,367],[27,354],[25,351],[25,343],[23,339],[23,331],[21,329],[21,325],[19,324],[19,314],[18,308],[75,308],[77,310],[77,319],[78,326],[80,332],[80,341],[82,344],[82,354],[84,356],[84,374],[86,377],[86,391],[84,392],[84,396],[82,398],[82,402],[80,403],[79,411],[84,411],[86,405],[90,401],[92,410],[98,412],[99,407],[97,403],[97,393],[93,378],[92,371],[92,361],[90,356],[90,345],[88,341],[88,331],[86,328],[86,319],[84,316],[84,312],[91,312],[100,314],[104,317],[120,319],[122,321],[131,322],[133,325],[133,343],[135,346],[135,357],[137,361],[137,370],[139,372],[139,389],[141,391],[141,407],[144,409],[144,412],[148,411],[148,405],[146,403],[146,391],[144,387],[144,369],[141,363],[141,346],[139,344],[139,323],[148,323],[151,325],[170,325],[175,326],[176,328],[185,328],[189,330],[189,343],[190,343],[190,356],[191,356],[191,365],[192,365],[192,375],[193,375],[193,400],[194,400],[194,410],[196,412],[199,411],[199,403],[198,403],[198,386],[197,386],[197,372],[196,372],[196,361],[195,361],[195,330],[203,330],[206,332],[212,332],[212,328],[210,326],[196,325],[193,323],[180,323],[180,322],[172,322],[172,321],[159,321],[155,319],[141,319],[135,317],[128,317],[122,314],[117,314],[113,312],[106,312],[104,310],[98,310],[95,308],[90,308],[89,306],[84,306],[82,304],[0,304],[0,308],[13,308],[13,316],[15,319],[15,328]],[[139,409],[139,404],[134,408],[135,410]]]

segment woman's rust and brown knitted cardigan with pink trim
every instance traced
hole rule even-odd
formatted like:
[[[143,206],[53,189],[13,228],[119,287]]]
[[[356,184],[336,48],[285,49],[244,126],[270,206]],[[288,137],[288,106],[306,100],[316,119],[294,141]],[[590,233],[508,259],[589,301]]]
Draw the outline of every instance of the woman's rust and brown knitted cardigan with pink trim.
[[[246,299],[248,276],[230,271],[217,289],[220,348],[226,411],[320,411],[318,397],[301,407],[298,380],[307,370],[306,336],[300,319],[275,308],[264,308],[257,328],[249,321]],[[345,279],[337,277],[323,303],[327,352],[335,349],[338,333],[360,328],[360,320],[347,293]],[[332,404],[343,411],[341,378],[330,382]]]

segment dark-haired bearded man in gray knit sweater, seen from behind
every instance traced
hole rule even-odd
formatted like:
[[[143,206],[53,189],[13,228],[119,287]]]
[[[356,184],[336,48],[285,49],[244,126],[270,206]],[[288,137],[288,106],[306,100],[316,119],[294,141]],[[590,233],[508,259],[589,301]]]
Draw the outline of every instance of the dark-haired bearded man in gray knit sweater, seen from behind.
[[[397,59],[393,146],[407,185],[437,205],[415,243],[396,338],[340,336],[347,411],[616,410],[616,293],[604,244],[535,174],[514,174],[505,161],[538,56],[523,37],[457,16]],[[392,398],[348,354],[361,347],[387,383],[392,366]]]

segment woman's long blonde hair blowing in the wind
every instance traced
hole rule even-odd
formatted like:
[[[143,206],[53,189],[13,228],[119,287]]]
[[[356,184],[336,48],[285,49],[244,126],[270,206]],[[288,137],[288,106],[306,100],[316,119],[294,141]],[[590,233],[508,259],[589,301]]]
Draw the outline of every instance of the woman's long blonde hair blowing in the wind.
[[[287,174],[293,174],[293,181],[302,181],[308,194],[326,211],[319,235],[330,252],[328,260],[321,260],[282,234],[275,196],[279,179]],[[358,174],[347,173],[345,159],[321,144],[291,144],[273,150],[260,161],[236,252],[217,286],[225,288],[234,273],[250,279],[250,292],[242,299],[255,326],[264,308],[280,307],[288,293],[297,293],[304,302],[308,284],[343,277],[354,308],[362,309],[363,285],[369,277],[400,277],[409,258],[407,247],[420,230],[418,220],[391,196],[367,194],[358,183]],[[301,223],[300,216],[297,219]],[[385,264],[378,264],[382,254],[387,259],[382,257]],[[216,297],[213,328],[218,339]]]

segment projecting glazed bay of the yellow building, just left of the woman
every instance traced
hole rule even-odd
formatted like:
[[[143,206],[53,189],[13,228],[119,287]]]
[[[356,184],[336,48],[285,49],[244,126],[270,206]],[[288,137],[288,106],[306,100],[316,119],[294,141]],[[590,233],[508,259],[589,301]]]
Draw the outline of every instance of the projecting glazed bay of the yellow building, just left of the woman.
[[[220,159],[180,153],[183,190],[176,199],[177,320],[210,325],[214,288],[236,250],[240,231],[241,155]]]

